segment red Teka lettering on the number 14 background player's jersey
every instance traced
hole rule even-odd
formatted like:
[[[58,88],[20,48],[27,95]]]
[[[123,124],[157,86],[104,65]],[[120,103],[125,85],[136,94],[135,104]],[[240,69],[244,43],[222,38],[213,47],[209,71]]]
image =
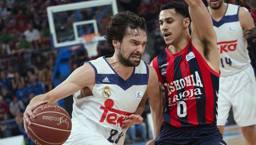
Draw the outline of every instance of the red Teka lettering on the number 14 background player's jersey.
[[[223,52],[235,51],[237,46],[237,40],[234,41],[222,41],[217,43],[220,54]]]

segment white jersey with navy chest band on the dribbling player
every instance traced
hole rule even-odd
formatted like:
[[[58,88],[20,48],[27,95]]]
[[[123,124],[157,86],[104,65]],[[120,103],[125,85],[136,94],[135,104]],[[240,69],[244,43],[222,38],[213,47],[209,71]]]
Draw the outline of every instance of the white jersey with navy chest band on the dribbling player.
[[[149,68],[141,61],[139,66],[134,67],[131,77],[125,81],[105,57],[89,63],[95,70],[93,95],[81,99],[77,98],[79,93],[73,95],[72,125],[86,126],[89,132],[100,138],[114,145],[123,145],[126,130],[122,130],[122,121],[136,111],[147,88]],[[77,132],[72,133],[71,136]],[[94,144],[100,143],[97,138],[94,141]],[[93,144],[92,142],[90,143]]]

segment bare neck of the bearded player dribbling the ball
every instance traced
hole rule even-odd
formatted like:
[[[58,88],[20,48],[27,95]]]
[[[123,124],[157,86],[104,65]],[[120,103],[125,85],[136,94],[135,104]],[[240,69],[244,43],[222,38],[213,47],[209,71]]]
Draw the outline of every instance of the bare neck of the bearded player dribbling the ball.
[[[115,72],[122,77],[122,79],[127,80],[131,77],[134,67],[127,67],[118,61],[118,55],[113,55],[112,57],[106,58],[107,62],[115,70]]]

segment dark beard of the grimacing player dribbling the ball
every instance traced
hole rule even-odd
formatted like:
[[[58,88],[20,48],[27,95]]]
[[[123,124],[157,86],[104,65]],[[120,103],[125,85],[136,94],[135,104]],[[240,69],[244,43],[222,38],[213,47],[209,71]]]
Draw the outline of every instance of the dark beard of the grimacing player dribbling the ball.
[[[128,56],[128,58],[124,57],[124,51],[123,49],[120,47],[118,50],[118,61],[120,63],[122,63],[124,66],[130,67],[130,66],[138,66],[140,64],[140,60],[139,61],[130,61],[129,59],[131,58],[132,55],[140,55],[140,59],[141,59],[141,54],[139,53],[132,53]]]

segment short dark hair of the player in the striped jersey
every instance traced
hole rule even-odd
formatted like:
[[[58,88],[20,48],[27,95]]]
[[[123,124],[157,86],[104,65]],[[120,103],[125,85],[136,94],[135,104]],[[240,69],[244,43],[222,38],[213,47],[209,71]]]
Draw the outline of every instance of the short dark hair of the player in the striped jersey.
[[[183,2],[168,2],[160,8],[160,12],[166,9],[174,9],[176,14],[178,13],[184,18],[189,18],[191,22],[187,4]]]

